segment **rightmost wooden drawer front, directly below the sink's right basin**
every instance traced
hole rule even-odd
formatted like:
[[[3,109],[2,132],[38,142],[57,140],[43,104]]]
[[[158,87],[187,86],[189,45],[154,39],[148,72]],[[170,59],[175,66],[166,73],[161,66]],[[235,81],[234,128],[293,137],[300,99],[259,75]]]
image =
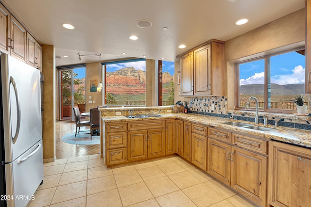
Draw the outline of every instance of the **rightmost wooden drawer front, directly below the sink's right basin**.
[[[267,154],[267,141],[261,140],[260,138],[232,134],[232,144],[243,147],[245,149]]]

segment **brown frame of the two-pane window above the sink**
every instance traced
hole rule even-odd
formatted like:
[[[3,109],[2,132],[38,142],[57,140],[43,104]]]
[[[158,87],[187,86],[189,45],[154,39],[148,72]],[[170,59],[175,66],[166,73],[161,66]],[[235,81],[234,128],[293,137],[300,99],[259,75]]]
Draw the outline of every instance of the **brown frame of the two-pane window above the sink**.
[[[271,113],[295,113],[296,110],[289,110],[289,109],[268,109],[268,81],[271,75],[271,71],[270,71],[270,58],[272,56],[276,56],[276,55],[281,55],[281,54],[285,54],[285,53],[289,53],[289,52],[293,52],[293,51],[299,51],[305,49],[305,46],[301,46],[301,47],[296,47],[296,48],[292,48],[292,49],[287,49],[287,50],[282,50],[279,52],[275,52],[272,54],[267,54],[267,55],[262,55],[256,58],[251,58],[251,59],[247,59],[247,60],[243,60],[240,62],[236,62],[234,64],[234,72],[235,72],[235,109],[236,110],[243,110],[243,111],[255,111],[255,107],[249,107],[249,109],[245,109],[244,107],[240,107],[240,69],[239,69],[239,65],[240,64],[245,64],[245,63],[250,63],[250,62],[254,62],[254,61],[258,61],[258,60],[264,60],[264,108],[259,108],[259,111],[262,112],[271,112]],[[306,59],[306,56],[305,56]],[[306,69],[305,69],[306,70]],[[269,74],[270,72],[270,74]],[[306,74],[305,74],[306,76]],[[306,81],[305,81],[306,84]],[[304,92],[305,93],[305,92]]]

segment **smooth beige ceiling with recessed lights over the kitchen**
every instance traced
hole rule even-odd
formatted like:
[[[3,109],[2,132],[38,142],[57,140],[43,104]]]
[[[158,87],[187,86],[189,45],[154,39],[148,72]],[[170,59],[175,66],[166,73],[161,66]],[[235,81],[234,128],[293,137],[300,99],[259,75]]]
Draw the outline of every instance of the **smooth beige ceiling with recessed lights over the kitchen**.
[[[209,39],[227,41],[304,8],[304,0],[1,0],[42,43],[56,48],[56,66],[129,57],[175,61]],[[248,18],[244,25],[236,25]],[[152,22],[139,28],[138,20]],[[72,24],[75,29],[62,27]],[[168,30],[163,31],[162,28]],[[129,36],[137,35],[138,40]],[[186,48],[178,48],[184,44]],[[126,52],[126,55],[122,55]],[[67,55],[68,57],[63,57]]]

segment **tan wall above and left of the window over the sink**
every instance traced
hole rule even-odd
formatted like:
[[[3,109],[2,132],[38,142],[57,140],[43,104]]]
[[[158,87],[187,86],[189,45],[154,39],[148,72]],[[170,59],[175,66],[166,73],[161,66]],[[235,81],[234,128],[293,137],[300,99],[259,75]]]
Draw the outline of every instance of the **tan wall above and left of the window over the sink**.
[[[283,16],[225,42],[225,96],[234,105],[234,63],[304,45],[305,9]],[[294,45],[293,45],[294,44]],[[286,47],[292,45],[291,47]],[[246,57],[246,58],[245,58]]]

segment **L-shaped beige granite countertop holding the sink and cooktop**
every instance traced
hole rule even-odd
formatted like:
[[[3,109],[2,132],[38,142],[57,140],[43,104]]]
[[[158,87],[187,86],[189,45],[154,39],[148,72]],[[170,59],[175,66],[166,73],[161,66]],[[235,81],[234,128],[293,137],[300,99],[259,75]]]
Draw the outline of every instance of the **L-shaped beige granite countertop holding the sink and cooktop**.
[[[311,131],[304,129],[293,129],[291,127],[274,127],[274,126],[263,126],[259,124],[257,126],[260,127],[269,127],[274,128],[275,130],[270,131],[258,131],[254,129],[247,129],[243,127],[235,127],[231,125],[224,124],[225,122],[242,122],[247,124],[255,125],[253,122],[239,121],[239,120],[231,120],[227,118],[213,117],[213,116],[205,116],[200,114],[184,114],[184,113],[161,113],[161,117],[143,117],[143,118],[127,118],[125,116],[104,116],[102,117],[104,122],[116,122],[116,121],[138,121],[138,120],[153,120],[153,119],[168,119],[168,118],[181,118],[184,121],[191,121],[194,123],[209,125],[213,127],[220,127],[231,132],[242,132],[247,133],[249,135],[255,135],[259,137],[263,137],[266,139],[281,141],[285,143],[292,143],[299,146],[304,146],[311,148]]]

